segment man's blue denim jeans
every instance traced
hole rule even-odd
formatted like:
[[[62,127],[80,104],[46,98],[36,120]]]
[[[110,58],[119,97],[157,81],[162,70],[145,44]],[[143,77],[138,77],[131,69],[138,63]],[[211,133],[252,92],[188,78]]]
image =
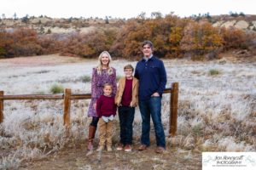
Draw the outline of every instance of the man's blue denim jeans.
[[[150,144],[150,116],[154,123],[154,133],[157,146],[166,148],[166,136],[161,122],[161,97],[151,97],[147,100],[139,100],[139,108],[143,118],[143,132],[141,143]]]

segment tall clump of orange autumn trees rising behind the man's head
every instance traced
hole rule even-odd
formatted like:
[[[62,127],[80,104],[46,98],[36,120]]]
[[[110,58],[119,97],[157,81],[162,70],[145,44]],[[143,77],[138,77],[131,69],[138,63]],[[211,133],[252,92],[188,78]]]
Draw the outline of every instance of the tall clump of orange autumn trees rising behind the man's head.
[[[209,22],[197,23],[172,14],[154,20],[129,20],[114,47],[127,59],[138,58],[144,40],[154,43],[154,54],[166,58],[181,57],[187,52],[205,54],[222,47],[218,29]]]

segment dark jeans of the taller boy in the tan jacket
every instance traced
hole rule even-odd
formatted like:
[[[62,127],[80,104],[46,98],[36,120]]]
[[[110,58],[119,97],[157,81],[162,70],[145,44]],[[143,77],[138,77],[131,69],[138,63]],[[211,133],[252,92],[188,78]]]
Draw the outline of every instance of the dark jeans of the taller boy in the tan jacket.
[[[134,113],[134,107],[119,106],[121,144],[132,144],[132,123],[134,120]]]

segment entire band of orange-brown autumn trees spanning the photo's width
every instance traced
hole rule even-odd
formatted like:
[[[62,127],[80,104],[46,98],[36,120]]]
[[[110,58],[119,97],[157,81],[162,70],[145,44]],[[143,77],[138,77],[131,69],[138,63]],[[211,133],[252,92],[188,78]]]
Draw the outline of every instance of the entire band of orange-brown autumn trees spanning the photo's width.
[[[125,21],[123,26],[105,27],[66,36],[38,34],[32,29],[0,31],[0,57],[10,58],[41,54],[95,57],[108,50],[115,58],[137,59],[140,43],[154,43],[154,54],[161,58],[207,57],[218,58],[218,54],[230,49],[253,50],[256,34],[235,27],[213,27],[206,20],[180,18],[174,14],[162,17],[154,14],[147,19],[144,15]]]

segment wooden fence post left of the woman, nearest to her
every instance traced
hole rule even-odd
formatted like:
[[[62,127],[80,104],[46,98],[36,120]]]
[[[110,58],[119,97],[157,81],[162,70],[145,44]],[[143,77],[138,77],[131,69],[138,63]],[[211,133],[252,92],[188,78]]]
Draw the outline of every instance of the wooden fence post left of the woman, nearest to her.
[[[70,126],[70,105],[71,105],[71,89],[66,88],[65,94],[64,94],[64,114],[63,114],[63,120],[64,125],[69,127]]]

